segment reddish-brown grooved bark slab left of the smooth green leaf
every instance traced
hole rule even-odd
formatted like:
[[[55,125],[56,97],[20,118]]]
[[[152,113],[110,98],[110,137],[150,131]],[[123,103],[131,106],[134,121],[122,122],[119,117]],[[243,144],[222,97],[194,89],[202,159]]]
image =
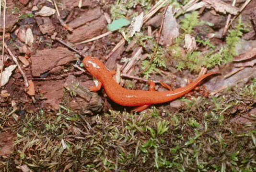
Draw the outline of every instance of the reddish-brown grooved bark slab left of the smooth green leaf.
[[[97,20],[88,22],[85,25],[75,29],[71,34],[67,35],[67,38],[71,43],[78,43],[102,34],[105,27],[105,17],[102,15]]]

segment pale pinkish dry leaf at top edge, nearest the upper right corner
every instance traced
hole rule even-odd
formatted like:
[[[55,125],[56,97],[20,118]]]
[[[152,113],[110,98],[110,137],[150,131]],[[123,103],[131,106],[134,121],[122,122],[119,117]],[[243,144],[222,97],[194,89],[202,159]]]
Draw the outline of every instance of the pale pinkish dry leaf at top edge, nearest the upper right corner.
[[[221,12],[223,14],[230,13],[236,15],[238,13],[238,9],[233,7],[230,4],[222,2],[221,0],[203,0],[206,2],[207,8],[214,8],[215,11]]]

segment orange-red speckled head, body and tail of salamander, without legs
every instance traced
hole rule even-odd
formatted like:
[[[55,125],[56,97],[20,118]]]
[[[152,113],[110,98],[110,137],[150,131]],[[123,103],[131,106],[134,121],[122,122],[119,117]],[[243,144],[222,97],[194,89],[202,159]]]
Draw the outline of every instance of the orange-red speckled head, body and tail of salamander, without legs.
[[[116,83],[116,81],[113,79],[112,72],[108,71],[105,65],[98,59],[93,57],[85,57],[83,59],[83,64],[90,74],[92,74],[99,82],[102,83],[107,96],[110,97],[111,100],[119,105],[130,107],[139,107],[143,105],[152,105],[172,101],[191,91],[207,76],[219,73],[211,72],[202,75],[187,86],[177,88],[173,91],[128,90]]]

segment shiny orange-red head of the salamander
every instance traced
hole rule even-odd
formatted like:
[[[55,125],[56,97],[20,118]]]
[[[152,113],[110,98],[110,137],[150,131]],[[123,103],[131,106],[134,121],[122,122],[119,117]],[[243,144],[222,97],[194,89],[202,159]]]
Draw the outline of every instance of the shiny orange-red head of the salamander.
[[[96,76],[105,69],[105,65],[98,59],[93,57],[85,57],[82,60],[85,69],[90,72],[93,76]]]

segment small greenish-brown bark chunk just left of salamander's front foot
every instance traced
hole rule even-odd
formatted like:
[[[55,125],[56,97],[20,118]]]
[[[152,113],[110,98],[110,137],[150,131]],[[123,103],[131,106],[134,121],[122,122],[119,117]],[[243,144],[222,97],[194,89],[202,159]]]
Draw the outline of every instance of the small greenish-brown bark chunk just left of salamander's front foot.
[[[81,82],[74,75],[69,75],[66,78],[64,87],[88,102],[92,98],[92,93],[86,87],[82,86]]]

